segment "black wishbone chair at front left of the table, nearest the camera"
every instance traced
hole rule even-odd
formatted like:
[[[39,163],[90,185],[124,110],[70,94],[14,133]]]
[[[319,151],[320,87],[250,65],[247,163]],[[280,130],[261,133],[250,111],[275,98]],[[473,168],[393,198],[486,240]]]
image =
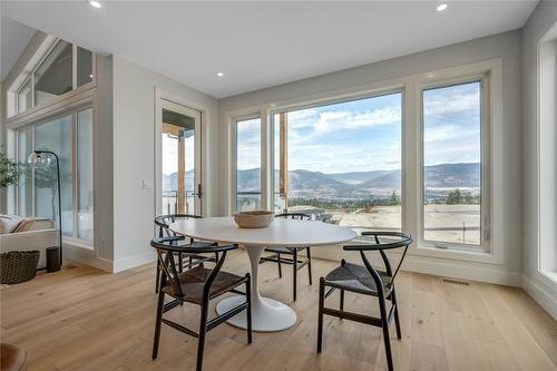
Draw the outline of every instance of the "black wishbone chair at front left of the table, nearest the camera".
[[[175,245],[174,237],[155,238],[150,245],[156,248],[158,261],[163,270],[160,290],[158,292],[157,316],[155,322],[155,339],[153,342],[153,359],[158,354],[158,342],[160,339],[160,325],[167,324],[175,330],[184,332],[198,339],[196,370],[201,371],[203,367],[203,351],[205,348],[205,335],[207,331],[213,330],[218,324],[233,318],[234,315],[246,311],[247,318],[247,342],[252,343],[252,300],[251,300],[251,279],[250,273],[244,276],[222,272],[221,267],[226,258],[226,253],[238,248],[237,245],[208,246],[208,247],[186,247]],[[178,272],[176,267],[176,254],[184,250],[189,253],[221,253],[221,257],[214,269],[206,269],[203,263],[185,272]],[[245,285],[245,293],[236,287]],[[212,320],[208,318],[209,300],[221,296],[227,292],[245,295],[246,301],[231,309]],[[174,297],[173,301],[165,304],[165,295]],[[192,303],[201,306],[199,332],[196,333],[179,323],[165,319],[164,313],[183,303]]]

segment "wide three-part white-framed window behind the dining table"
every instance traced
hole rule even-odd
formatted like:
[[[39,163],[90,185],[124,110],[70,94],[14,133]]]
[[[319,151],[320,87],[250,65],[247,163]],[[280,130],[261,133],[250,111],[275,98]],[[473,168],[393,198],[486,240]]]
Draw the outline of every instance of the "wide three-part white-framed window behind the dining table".
[[[268,119],[252,135],[235,126],[236,189],[254,194],[231,195],[231,208],[256,197],[358,233],[402,230],[417,255],[501,263],[506,196],[491,191],[504,180],[492,166],[505,129],[501,60],[342,91],[261,104]],[[247,110],[229,108],[227,117]]]

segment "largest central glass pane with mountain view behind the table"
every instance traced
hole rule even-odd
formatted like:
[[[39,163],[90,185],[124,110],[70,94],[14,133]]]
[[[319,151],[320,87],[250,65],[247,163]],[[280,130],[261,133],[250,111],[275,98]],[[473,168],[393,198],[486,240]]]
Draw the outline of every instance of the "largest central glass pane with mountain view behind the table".
[[[275,114],[275,212],[399,231],[401,110],[402,94],[393,92]]]

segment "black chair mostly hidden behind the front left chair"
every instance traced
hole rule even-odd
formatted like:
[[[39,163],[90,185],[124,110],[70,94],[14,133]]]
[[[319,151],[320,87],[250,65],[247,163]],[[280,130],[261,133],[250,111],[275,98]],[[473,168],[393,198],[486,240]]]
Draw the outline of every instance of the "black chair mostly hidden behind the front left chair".
[[[158,227],[158,237],[175,237],[176,242],[184,241],[184,244],[182,246],[190,246],[190,247],[209,247],[213,245],[216,245],[214,242],[206,242],[206,241],[194,241],[194,238],[186,237],[186,236],[179,236],[173,231],[170,231],[169,225],[176,221],[182,221],[182,219],[189,219],[189,218],[202,218],[199,215],[193,215],[193,214],[168,214],[168,215],[159,215],[155,217],[155,225]],[[188,244],[186,245],[185,242],[188,241]],[[190,269],[199,263],[203,262],[217,262],[218,261],[218,253],[214,253],[213,256],[206,256],[202,254],[195,254],[195,253],[179,253],[177,254],[178,257],[178,270],[182,273],[184,269]],[[158,285],[160,284],[160,265],[157,264],[157,276],[156,276],[156,282],[155,282],[155,292],[158,293]]]

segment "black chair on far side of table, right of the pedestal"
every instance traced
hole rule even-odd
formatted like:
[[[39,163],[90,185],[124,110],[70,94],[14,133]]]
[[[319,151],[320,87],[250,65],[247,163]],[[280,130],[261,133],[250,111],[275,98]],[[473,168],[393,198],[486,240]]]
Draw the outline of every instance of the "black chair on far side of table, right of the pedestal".
[[[299,221],[310,221],[311,216],[304,213],[284,213],[276,214],[275,217],[284,217],[291,219]],[[305,258],[299,258],[297,253],[305,250]],[[289,247],[289,246],[271,246],[265,248],[266,252],[273,253],[270,256],[262,256],[260,260],[261,263],[273,262],[278,264],[278,277],[282,279],[282,264],[291,264],[293,266],[293,275],[292,275],[292,285],[293,285],[293,294],[292,297],[296,301],[297,293],[297,271],[307,265],[307,274],[310,279],[310,285],[312,284],[312,255],[310,251],[310,246],[306,247]],[[283,256],[281,256],[281,254]],[[284,255],[289,255],[291,257],[284,257]]]

